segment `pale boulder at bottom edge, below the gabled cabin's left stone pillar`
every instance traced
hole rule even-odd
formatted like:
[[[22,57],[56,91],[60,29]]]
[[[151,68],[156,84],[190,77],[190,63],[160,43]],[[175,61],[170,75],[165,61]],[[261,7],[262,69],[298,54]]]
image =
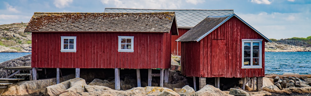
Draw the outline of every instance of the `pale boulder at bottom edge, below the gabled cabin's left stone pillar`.
[[[234,96],[230,94],[226,94],[218,88],[215,88],[212,85],[205,85],[199,91],[193,93],[191,96]]]

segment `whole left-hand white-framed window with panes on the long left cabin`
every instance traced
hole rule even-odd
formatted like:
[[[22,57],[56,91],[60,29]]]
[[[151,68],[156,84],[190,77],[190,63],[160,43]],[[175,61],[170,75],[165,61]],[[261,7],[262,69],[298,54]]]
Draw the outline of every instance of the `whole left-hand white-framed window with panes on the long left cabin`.
[[[60,52],[76,52],[77,37],[76,36],[61,36]]]

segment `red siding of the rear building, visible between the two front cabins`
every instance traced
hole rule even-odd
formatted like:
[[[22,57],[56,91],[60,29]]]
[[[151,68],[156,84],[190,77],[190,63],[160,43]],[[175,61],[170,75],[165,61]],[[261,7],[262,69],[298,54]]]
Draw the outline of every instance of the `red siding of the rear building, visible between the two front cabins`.
[[[172,35],[172,52],[173,55],[181,55],[181,43],[175,41],[179,37],[181,37],[183,34],[185,34],[188,30],[191,28],[178,28],[178,35]],[[178,43],[178,44],[177,44]],[[177,54],[178,53],[178,54]]]

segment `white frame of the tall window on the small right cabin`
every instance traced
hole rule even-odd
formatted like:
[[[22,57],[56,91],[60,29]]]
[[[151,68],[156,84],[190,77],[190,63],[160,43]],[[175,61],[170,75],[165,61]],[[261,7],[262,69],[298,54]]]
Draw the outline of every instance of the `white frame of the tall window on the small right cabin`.
[[[245,65],[244,66],[244,43],[250,42],[251,43],[251,58],[249,63],[251,65]],[[259,65],[253,65],[253,43],[258,42],[259,43]],[[262,68],[262,39],[242,39],[242,69],[243,68]]]

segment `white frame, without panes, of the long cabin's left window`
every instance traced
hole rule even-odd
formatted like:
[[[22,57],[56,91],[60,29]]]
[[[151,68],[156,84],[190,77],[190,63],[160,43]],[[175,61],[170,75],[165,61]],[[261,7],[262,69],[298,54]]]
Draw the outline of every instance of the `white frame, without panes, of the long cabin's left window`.
[[[76,36],[61,36],[60,52],[77,52],[77,37]],[[64,39],[73,39],[73,49],[64,49]]]

